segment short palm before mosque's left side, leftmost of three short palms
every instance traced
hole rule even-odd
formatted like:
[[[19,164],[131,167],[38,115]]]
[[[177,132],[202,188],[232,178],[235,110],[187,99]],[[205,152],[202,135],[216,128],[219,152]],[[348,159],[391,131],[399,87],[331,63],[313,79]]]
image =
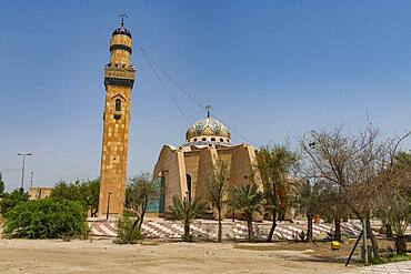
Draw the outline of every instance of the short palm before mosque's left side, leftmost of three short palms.
[[[174,196],[172,199],[172,206],[169,207],[168,215],[170,219],[179,220],[184,225],[183,241],[190,242],[190,225],[194,219],[206,213],[206,203],[200,199],[186,196],[182,201]]]

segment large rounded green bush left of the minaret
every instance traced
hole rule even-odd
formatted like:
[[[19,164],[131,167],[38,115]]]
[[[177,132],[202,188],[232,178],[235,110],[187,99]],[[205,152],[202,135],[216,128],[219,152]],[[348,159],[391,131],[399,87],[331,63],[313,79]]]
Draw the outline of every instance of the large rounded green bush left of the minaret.
[[[69,239],[87,231],[79,202],[49,197],[19,203],[6,214],[4,234],[28,239]]]

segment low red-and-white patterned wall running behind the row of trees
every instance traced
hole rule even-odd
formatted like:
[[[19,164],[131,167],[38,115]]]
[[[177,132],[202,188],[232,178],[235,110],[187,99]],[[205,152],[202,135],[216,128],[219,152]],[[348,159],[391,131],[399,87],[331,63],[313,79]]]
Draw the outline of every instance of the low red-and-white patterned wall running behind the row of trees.
[[[116,237],[116,220],[110,219],[88,219],[91,234],[96,236]],[[269,234],[271,222],[253,223],[254,236],[263,240]],[[333,226],[329,223],[313,224],[313,237],[324,240],[329,237],[329,232]],[[278,222],[273,237],[275,240],[299,240],[302,231],[307,232],[307,222]],[[347,237],[358,237],[361,232],[361,224],[358,221],[341,223],[341,233]],[[151,239],[180,239],[183,234],[181,222],[168,221],[164,219],[146,220],[142,225],[142,233]],[[218,222],[211,220],[196,220],[191,225],[191,234],[194,239],[215,240],[218,233]],[[224,240],[247,239],[247,224],[243,221],[224,220],[222,222],[222,237]]]

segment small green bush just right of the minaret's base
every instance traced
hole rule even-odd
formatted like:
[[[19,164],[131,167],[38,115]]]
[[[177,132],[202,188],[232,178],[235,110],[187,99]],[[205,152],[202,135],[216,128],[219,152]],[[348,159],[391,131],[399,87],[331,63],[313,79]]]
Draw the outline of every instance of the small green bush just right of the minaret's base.
[[[117,244],[136,244],[142,239],[140,231],[131,221],[129,214],[124,214],[117,220]]]

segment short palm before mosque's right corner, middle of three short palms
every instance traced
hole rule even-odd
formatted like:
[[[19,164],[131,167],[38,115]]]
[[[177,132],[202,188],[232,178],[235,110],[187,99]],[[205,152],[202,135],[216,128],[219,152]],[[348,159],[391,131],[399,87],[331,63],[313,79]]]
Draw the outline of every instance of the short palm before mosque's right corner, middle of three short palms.
[[[262,199],[263,195],[257,184],[234,186],[233,189],[233,196],[230,203],[233,210],[239,211],[245,217],[249,242],[252,242],[254,239],[252,230],[252,215],[254,213],[263,214],[263,207],[261,205]]]

